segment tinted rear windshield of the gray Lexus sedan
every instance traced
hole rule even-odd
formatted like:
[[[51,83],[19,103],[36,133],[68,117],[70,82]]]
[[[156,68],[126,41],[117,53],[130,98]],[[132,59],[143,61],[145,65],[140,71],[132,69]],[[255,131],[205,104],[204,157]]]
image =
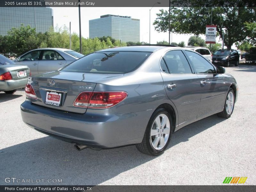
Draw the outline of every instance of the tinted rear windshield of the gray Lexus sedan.
[[[83,73],[128,73],[138,68],[152,52],[95,52],[62,68]]]

